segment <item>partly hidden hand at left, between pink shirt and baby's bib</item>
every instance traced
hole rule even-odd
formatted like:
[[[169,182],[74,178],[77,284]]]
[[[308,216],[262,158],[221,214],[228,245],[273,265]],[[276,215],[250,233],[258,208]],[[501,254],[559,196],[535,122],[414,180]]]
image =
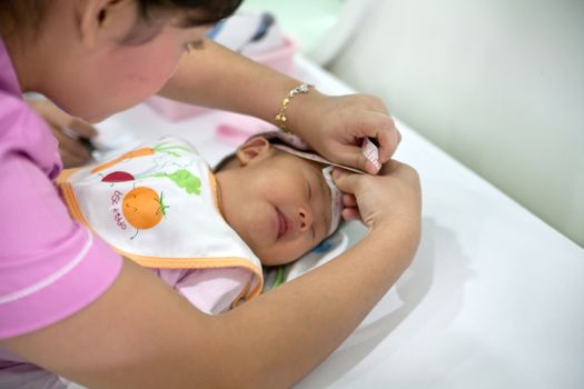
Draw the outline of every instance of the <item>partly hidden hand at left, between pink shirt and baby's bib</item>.
[[[28,100],[28,103],[44,119],[59,141],[59,153],[66,168],[75,168],[91,160],[88,148],[80,141],[97,136],[91,124],[69,116],[49,100]]]

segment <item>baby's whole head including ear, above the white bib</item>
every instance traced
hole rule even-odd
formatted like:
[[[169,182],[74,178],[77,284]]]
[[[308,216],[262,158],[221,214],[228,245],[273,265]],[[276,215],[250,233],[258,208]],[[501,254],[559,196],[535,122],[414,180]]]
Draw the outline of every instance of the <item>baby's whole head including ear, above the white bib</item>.
[[[225,219],[267,266],[298,259],[340,219],[340,193],[327,183],[327,166],[277,147],[254,137],[216,168]]]

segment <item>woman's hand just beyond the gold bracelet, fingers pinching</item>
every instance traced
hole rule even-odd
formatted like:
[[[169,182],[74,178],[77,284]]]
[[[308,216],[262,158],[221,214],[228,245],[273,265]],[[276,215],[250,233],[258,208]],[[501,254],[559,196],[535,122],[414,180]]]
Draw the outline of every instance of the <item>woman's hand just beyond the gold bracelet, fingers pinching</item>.
[[[310,90],[289,107],[290,126],[328,160],[376,174],[402,140],[383,101],[374,96],[326,96]],[[379,148],[379,163],[362,153],[364,138]]]

